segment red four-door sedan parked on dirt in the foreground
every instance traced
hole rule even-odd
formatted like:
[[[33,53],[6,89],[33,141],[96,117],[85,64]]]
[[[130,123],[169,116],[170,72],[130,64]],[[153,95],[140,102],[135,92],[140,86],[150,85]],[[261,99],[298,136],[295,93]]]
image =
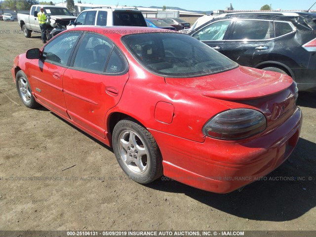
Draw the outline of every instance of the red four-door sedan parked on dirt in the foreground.
[[[286,160],[302,125],[290,77],[162,29],[71,29],[17,56],[12,76],[27,107],[113,147],[142,184],[165,175],[232,192]]]

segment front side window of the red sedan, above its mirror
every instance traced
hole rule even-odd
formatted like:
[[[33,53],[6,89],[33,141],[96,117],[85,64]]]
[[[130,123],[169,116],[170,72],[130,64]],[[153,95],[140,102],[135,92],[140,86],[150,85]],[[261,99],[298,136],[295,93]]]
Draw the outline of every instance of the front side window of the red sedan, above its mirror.
[[[69,32],[54,38],[45,46],[41,59],[66,66],[80,35],[80,32]]]

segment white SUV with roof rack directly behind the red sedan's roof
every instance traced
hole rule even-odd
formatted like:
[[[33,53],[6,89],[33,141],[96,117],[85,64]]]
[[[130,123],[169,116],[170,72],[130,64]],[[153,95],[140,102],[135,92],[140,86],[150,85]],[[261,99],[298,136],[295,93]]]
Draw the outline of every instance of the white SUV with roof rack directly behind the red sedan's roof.
[[[130,8],[96,7],[82,11],[67,29],[82,26],[144,26],[147,27],[140,10]]]

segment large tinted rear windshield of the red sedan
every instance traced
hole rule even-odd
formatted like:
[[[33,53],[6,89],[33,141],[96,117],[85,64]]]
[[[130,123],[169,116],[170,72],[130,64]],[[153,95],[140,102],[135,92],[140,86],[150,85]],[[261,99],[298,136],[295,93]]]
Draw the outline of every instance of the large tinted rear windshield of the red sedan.
[[[147,33],[122,38],[146,69],[164,77],[198,77],[220,73],[238,64],[191,36]]]

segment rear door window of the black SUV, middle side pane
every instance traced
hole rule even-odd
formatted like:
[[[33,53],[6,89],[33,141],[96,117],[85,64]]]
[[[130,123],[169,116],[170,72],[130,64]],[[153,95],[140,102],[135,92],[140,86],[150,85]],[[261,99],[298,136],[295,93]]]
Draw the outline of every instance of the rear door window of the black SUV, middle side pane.
[[[270,21],[236,21],[231,40],[268,40],[272,36],[273,26]]]

